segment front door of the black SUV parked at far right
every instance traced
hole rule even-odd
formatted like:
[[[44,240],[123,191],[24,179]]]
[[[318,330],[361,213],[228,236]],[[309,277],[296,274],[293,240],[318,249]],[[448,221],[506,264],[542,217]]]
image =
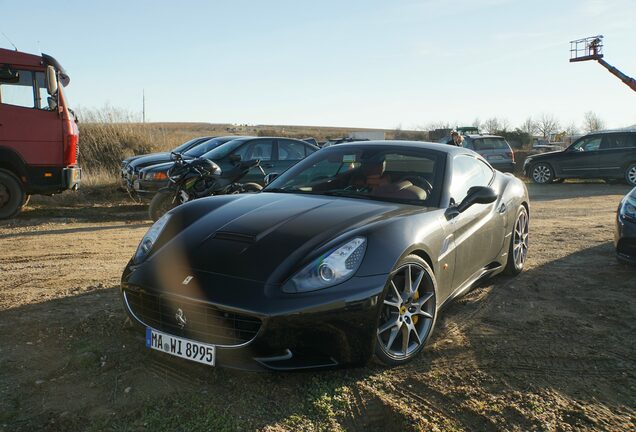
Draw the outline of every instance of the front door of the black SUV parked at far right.
[[[560,154],[555,167],[556,176],[599,177],[599,158],[601,153],[601,135],[583,137]]]

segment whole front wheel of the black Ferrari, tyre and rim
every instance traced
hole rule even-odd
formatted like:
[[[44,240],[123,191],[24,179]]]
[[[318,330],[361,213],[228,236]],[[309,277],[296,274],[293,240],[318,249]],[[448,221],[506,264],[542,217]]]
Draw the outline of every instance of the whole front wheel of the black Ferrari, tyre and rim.
[[[412,294],[407,294],[407,275],[411,276]],[[415,286],[413,282],[418,280],[420,283]],[[380,308],[375,337],[377,360],[388,366],[413,360],[426,346],[437,319],[437,282],[426,261],[408,255],[398,262],[387,280]],[[413,336],[413,332],[417,335]],[[391,349],[396,344],[399,351]]]

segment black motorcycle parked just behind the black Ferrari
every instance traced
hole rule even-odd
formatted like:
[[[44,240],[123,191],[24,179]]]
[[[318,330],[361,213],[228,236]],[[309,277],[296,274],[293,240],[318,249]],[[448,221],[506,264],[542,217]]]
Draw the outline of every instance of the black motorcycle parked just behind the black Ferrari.
[[[180,154],[173,153],[172,159],[175,162],[168,170],[170,185],[157,192],[148,207],[153,221],[178,205],[198,198],[258,192],[262,189],[258,183],[239,181],[255,167],[261,170],[263,177],[266,175],[258,159],[242,162],[237,157],[232,160],[234,166],[227,172],[222,172],[221,167],[205,158],[186,160]]]

